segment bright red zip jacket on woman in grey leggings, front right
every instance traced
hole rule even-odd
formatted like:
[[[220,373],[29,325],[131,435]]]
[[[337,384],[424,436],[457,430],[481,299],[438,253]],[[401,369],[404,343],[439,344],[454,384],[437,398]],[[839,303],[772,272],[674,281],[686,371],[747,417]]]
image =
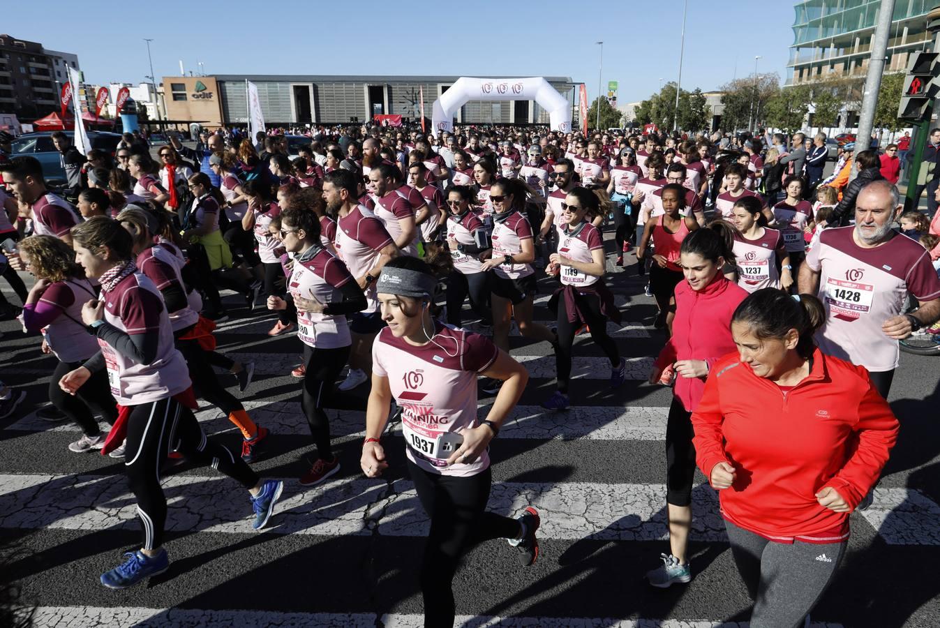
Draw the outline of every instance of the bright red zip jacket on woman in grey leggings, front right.
[[[849,513],[816,501],[831,486],[851,509],[869,492],[898,435],[898,419],[863,367],[813,352],[809,376],[784,396],[738,353],[715,365],[692,415],[698,468],[735,468],[719,491],[735,526],[771,539],[835,542]]]

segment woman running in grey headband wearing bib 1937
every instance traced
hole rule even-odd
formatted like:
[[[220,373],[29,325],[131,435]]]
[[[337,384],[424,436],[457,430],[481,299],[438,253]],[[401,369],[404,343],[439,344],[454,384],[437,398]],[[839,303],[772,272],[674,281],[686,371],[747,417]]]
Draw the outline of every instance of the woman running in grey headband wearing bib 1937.
[[[431,532],[421,558],[424,625],[452,626],[454,573],[478,542],[508,539],[524,565],[539,557],[539,512],[517,519],[486,510],[492,472],[487,447],[522,396],[528,373],[478,334],[431,318],[437,278],[423,260],[399,257],[378,281],[382,318],[388,323],[372,346],[372,390],[360,464],[369,478],[388,467],[380,442],[394,400],[401,409],[408,471]],[[477,377],[505,383],[486,420],[478,420]],[[440,418],[442,420],[433,420]]]

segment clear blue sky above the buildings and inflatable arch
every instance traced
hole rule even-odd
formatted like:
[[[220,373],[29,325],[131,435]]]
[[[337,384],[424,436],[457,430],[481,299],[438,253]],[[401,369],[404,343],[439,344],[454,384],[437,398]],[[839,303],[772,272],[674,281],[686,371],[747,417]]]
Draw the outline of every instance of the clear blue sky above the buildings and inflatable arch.
[[[2,28],[13,37],[79,55],[86,81],[94,84],[145,81],[143,38],[153,39],[158,79],[178,75],[180,59],[186,71],[196,71],[201,61],[207,74],[561,75],[587,83],[593,99],[598,40],[603,40],[604,89],[607,81],[619,81],[620,102],[648,98],[661,78],[677,77],[682,0],[437,4],[441,8],[374,0],[161,0],[133,8],[108,0],[86,3],[81,11],[70,3],[60,19],[46,21],[36,19],[35,5],[16,2],[4,8]],[[754,71],[755,55],[762,57],[760,72],[776,71],[786,80],[793,2],[689,0],[688,5],[683,87],[707,91],[735,74],[746,76]],[[441,20],[447,25],[434,25]],[[415,48],[420,52],[412,52]]]

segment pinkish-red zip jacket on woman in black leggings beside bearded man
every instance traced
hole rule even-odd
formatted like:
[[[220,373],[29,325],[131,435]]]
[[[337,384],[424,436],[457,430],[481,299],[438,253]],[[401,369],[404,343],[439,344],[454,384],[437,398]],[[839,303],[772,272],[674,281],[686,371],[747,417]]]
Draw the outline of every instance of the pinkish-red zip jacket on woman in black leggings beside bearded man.
[[[676,316],[672,320],[672,337],[656,358],[656,366],[666,369],[677,360],[705,360],[712,372],[714,362],[734,351],[731,338],[731,315],[741,305],[747,291],[715,275],[702,290],[692,290],[682,279],[676,286]],[[705,389],[705,381],[696,377],[676,376],[673,394],[689,412],[696,409]]]

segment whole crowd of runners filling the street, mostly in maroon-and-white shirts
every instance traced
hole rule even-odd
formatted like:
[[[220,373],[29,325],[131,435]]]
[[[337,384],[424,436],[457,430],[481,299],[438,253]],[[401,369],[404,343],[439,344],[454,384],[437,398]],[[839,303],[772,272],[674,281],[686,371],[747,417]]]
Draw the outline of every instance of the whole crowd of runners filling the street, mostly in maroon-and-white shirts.
[[[167,569],[160,479],[177,459],[239,482],[258,530],[285,489],[300,490],[251,467],[270,453],[270,433],[226,378],[244,391],[254,363],[217,352],[213,337],[238,307],[240,317],[275,312],[268,335],[296,335],[303,353],[290,374],[315,462],[299,484],[340,470],[325,412],[338,396],[366,408],[368,478],[401,456],[387,437],[400,421],[431,519],[419,566],[426,625],[451,625],[451,583],[472,546],[506,539],[524,565],[540,554],[534,506],[515,518],[486,510],[488,446],[528,381],[509,355],[512,325],[555,354],[546,412],[577,400],[578,335],[603,351],[618,388],[626,361],[608,322],[630,306],[607,277],[619,266],[646,277],[664,340],[649,380],[673,391],[668,551],[649,584],[692,579],[699,468],[720,495],[751,625],[804,625],[897,437],[885,398],[898,341],[936,333],[940,319],[940,219],[901,212],[877,150],[850,148],[825,180],[825,137],[807,147],[802,133],[362,127],[313,134],[294,157],[283,135],[193,139],[150,147],[127,133],[113,157],[76,156],[56,133],[69,180],[58,191],[36,159],[0,158],[3,276],[22,301],[0,306],[57,359],[47,417],[81,428],[76,454],[122,459],[136,499],[140,548],[102,574],[104,586]],[[841,181],[853,159],[861,174]],[[550,326],[533,320],[545,277]],[[22,395],[2,392],[9,416]],[[494,396],[486,416],[479,395]],[[203,432],[200,400],[239,429],[241,452]]]

